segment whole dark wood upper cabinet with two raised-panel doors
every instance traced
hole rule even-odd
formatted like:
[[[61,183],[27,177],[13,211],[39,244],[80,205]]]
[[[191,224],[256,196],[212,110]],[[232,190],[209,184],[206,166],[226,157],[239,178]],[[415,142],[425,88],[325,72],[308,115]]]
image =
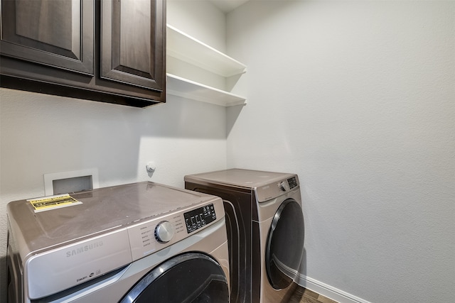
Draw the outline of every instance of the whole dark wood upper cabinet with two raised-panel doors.
[[[0,85],[130,106],[166,101],[166,0],[1,0]]]

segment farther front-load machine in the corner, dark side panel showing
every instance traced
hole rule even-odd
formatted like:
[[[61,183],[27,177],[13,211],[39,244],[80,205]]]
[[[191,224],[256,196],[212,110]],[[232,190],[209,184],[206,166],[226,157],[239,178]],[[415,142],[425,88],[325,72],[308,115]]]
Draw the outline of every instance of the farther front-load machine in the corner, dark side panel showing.
[[[287,302],[304,254],[299,178],[257,170],[185,177],[186,189],[221,197],[230,253],[231,302]]]

